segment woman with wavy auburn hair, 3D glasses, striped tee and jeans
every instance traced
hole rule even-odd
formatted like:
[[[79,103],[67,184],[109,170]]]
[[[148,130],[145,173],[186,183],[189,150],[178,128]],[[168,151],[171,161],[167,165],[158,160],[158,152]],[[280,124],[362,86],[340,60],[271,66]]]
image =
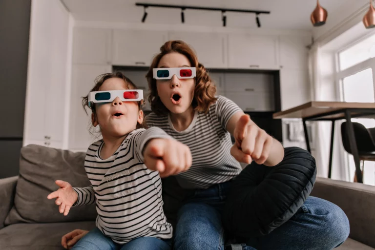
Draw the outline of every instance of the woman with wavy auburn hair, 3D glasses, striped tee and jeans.
[[[158,126],[189,146],[193,157],[190,169],[175,176],[178,185],[163,182],[165,200],[178,188],[184,193],[174,249],[224,249],[221,211],[231,182],[241,172],[238,162],[272,167],[282,161],[284,149],[236,104],[215,97],[205,67],[185,42],[169,41],[160,50],[146,75],[153,111],[146,125]],[[233,146],[230,135],[235,138]],[[282,227],[258,239],[257,248],[333,249],[347,238],[348,219],[332,203],[310,197],[300,210]],[[63,236],[62,241],[80,237],[73,235]],[[313,239],[309,248],[306,236]]]

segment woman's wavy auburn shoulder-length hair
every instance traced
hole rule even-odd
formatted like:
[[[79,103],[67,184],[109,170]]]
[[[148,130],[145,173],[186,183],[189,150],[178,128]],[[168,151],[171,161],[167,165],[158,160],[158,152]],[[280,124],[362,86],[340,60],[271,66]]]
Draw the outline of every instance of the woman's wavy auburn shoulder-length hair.
[[[197,111],[207,113],[209,106],[216,101],[216,87],[211,83],[211,78],[209,77],[206,68],[198,62],[194,51],[189,47],[189,45],[187,45],[187,43],[180,40],[168,41],[164,43],[164,45],[160,47],[160,53],[153,58],[151,66],[146,74],[148,88],[150,89],[148,101],[150,102],[151,110],[157,115],[167,115],[169,113],[169,110],[158,96],[156,80],[153,78],[152,69],[157,68],[162,57],[171,52],[177,52],[186,56],[191,63],[191,66],[196,67],[195,89],[192,106]]]

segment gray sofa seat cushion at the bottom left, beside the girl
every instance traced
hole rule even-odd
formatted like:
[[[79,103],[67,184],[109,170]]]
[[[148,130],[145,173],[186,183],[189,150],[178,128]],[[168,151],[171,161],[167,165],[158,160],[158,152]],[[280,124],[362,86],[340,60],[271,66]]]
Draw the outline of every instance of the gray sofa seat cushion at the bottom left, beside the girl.
[[[2,250],[63,250],[62,235],[74,230],[91,230],[94,221],[63,223],[20,223],[0,230]]]

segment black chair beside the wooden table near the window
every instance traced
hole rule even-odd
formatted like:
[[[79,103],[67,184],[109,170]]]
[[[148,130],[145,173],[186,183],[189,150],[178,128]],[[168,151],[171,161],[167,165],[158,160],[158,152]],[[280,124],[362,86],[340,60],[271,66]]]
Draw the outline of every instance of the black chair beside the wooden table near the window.
[[[359,160],[362,161],[362,174],[363,168],[365,165],[365,161],[375,161],[375,128],[367,129],[364,125],[360,123],[354,123],[354,137],[355,137],[355,144],[358,148],[358,155]],[[347,131],[347,122],[343,122],[341,124],[341,139],[342,144],[344,146],[345,151],[349,154],[352,154],[352,150],[350,149],[349,144],[349,136]],[[354,182],[357,181],[357,176],[354,176]]]

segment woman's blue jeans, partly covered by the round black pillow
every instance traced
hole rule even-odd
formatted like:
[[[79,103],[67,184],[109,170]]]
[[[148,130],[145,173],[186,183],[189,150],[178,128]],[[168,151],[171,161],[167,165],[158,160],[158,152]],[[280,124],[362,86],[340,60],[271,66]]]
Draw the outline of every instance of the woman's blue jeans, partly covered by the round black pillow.
[[[231,182],[193,190],[180,208],[175,228],[176,250],[223,250],[227,240],[221,212]],[[243,250],[331,250],[349,235],[349,221],[331,202],[309,197],[294,216],[270,234],[241,239]],[[231,241],[233,242],[233,241]]]

